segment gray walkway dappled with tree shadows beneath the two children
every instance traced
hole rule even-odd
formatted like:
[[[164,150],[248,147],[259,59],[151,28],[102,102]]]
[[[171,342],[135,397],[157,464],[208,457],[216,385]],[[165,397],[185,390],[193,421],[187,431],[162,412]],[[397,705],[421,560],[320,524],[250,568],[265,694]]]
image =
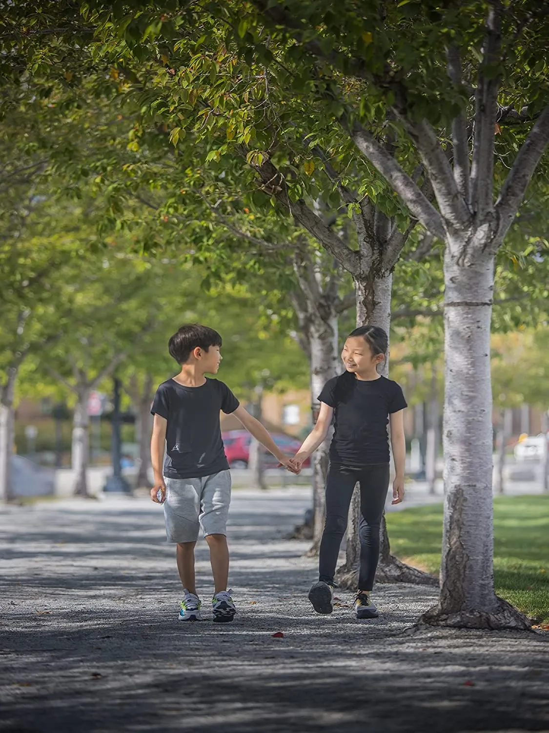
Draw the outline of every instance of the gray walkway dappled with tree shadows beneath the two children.
[[[549,731],[547,633],[414,633],[435,600],[417,586],[379,586],[370,622],[345,593],[314,616],[315,562],[285,539],[308,505],[299,489],[234,492],[239,614],[221,627],[176,620],[173,548],[149,501],[0,512],[0,730]],[[207,600],[204,542],[197,558]]]

